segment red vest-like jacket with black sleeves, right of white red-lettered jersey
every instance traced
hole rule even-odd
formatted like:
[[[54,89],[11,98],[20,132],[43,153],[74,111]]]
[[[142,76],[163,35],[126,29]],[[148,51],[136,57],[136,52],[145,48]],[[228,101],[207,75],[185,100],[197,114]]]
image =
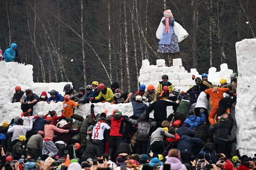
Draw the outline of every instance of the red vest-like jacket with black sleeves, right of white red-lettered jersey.
[[[111,129],[109,136],[123,136],[123,124],[124,119],[121,118],[120,120],[115,120],[114,117],[111,119]]]

